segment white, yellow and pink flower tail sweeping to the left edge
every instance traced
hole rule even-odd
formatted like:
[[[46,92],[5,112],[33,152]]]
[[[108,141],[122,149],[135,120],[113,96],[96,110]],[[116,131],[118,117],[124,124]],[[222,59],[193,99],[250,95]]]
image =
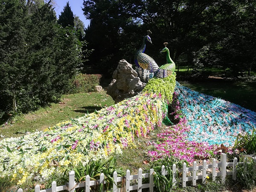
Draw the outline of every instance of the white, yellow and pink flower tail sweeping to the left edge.
[[[168,94],[174,92],[175,75],[172,79]],[[17,184],[27,179],[42,181],[80,161],[86,165],[90,160],[120,154],[123,148],[135,145],[134,137],[144,137],[162,124],[167,112],[163,98],[161,93],[146,90],[79,119],[4,139],[0,144],[0,177],[10,177]]]

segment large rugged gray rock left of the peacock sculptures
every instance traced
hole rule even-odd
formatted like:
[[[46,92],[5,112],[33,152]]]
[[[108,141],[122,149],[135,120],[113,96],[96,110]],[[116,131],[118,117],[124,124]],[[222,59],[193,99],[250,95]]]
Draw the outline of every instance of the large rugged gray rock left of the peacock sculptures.
[[[112,97],[115,103],[136,96],[146,85],[140,81],[132,65],[124,59],[119,61],[112,77],[113,80],[108,85],[107,94]]]

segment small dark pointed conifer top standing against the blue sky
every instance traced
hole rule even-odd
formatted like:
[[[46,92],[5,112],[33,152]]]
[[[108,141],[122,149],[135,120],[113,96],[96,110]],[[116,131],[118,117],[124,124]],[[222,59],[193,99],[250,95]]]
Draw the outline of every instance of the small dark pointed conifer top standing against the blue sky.
[[[58,24],[60,24],[63,27],[75,25],[74,15],[69,5],[69,2],[67,2],[67,5],[64,6],[63,12],[61,12],[61,15],[59,15]]]

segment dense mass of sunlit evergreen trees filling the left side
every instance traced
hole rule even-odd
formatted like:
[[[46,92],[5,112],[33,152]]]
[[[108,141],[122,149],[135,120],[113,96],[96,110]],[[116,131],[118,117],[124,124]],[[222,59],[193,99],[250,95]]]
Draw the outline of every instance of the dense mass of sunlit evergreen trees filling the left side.
[[[90,51],[73,27],[56,23],[49,4],[29,14],[19,0],[0,0],[0,6],[1,118],[58,101]]]

